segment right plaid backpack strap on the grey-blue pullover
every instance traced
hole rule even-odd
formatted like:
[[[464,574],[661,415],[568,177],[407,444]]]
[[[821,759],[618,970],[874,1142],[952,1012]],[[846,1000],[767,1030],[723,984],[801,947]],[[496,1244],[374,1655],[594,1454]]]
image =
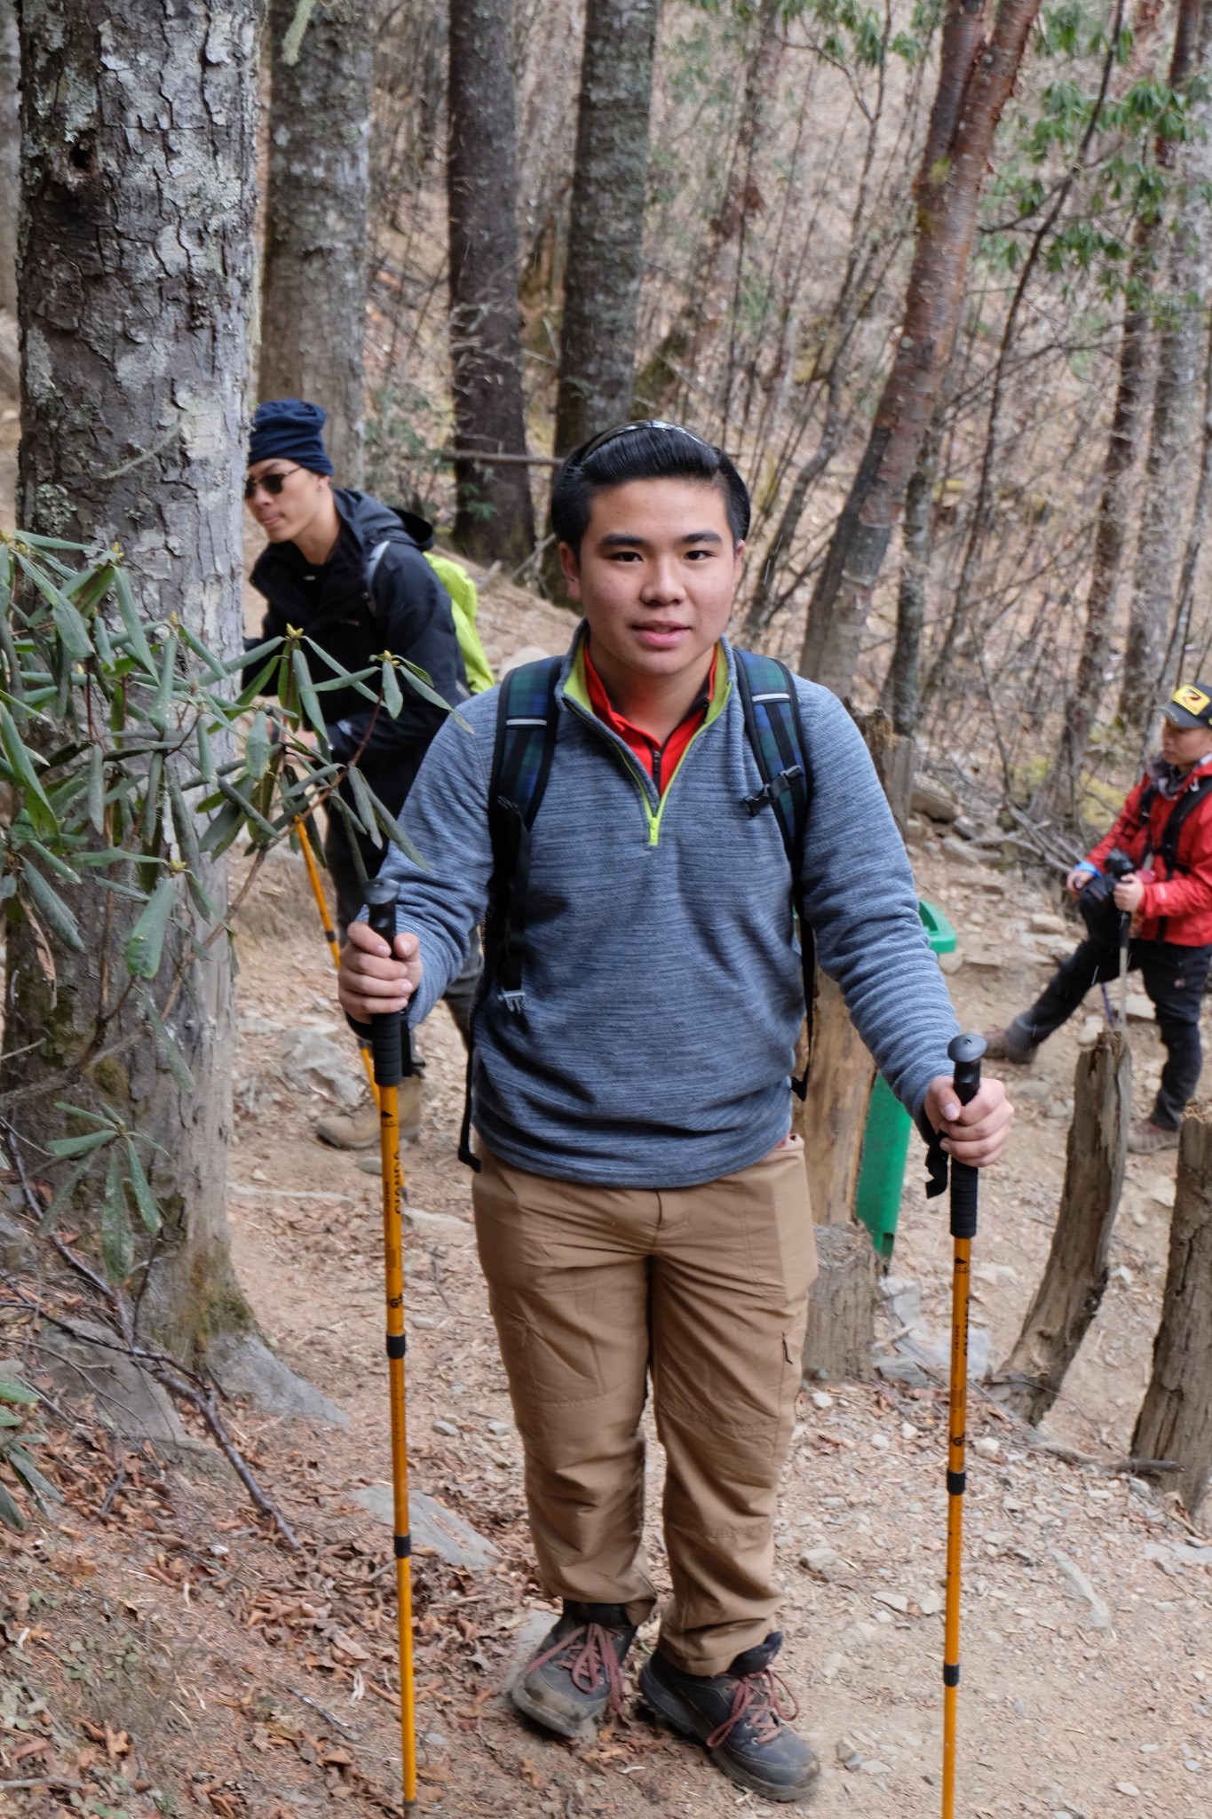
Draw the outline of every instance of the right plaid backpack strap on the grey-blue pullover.
[[[745,713],[745,733],[761,773],[761,789],[745,797],[750,815],[772,809],[778,820],[787,862],[790,864],[790,900],[800,924],[800,960],[803,968],[803,1013],[809,1024],[809,1064],[812,1053],[812,982],[816,973],[816,942],[812,924],[803,913],[803,833],[812,802],[812,771],[809,748],[800,719],[800,695],[787,664],[758,651],[734,651],[736,682]],[[809,1090],[809,1068],[790,1082],[800,1099]]]

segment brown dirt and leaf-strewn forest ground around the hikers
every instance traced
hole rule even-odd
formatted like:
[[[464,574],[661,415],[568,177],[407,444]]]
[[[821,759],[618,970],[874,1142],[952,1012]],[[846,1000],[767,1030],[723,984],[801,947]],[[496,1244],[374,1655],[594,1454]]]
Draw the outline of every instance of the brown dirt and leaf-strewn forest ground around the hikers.
[[[569,624],[516,589],[485,602],[498,660],[520,644],[554,649]],[[923,897],[959,930],[963,964],[949,984],[961,1022],[1005,1020],[1065,942],[1059,930],[1030,928],[1061,913],[1056,895],[961,860],[934,833],[912,857]],[[358,1080],[289,855],[265,868],[242,913],[240,962],[236,1266],[273,1348],[345,1424],[236,1410],[298,1552],[254,1519],[193,1433],[169,1459],[114,1441],[89,1452],[55,1430],[67,1502],[25,1537],[0,1541],[0,1784],[16,1783],[0,1786],[0,1810],[398,1810],[389,1528],[374,1513],[389,1477],[378,1181],[313,1139],[333,1099],[289,1073],[300,1040],[334,1042]],[[994,1362],[1047,1255],[1079,1035],[1074,1019],[1028,1073],[1012,1070],[1019,1115],[1007,1161],[983,1186],[974,1268],[974,1324]],[[1159,1044],[1147,1022],[1132,1022],[1130,1039],[1143,1110]],[[552,1612],[534,1579],[520,1448],[456,1161],[463,1057],[445,1010],[422,1050],[425,1117],[407,1151],[405,1222],[412,1486],[487,1546],[462,1566],[423,1541],[414,1557],[420,1804],[451,1819],[772,1812],[634,1704],[594,1743],[565,1744],[529,1728],[503,1695],[511,1664]],[[1110,1286],[1045,1424],[1070,1459],[1101,1464],[1048,1452],[974,1386],[963,1819],[1212,1810],[1212,1548],[1165,1497],[1108,1470],[1128,1450],[1148,1375],[1172,1193],[1172,1155],[1130,1159]],[[943,1211],[923,1199],[919,1153],[892,1270],[885,1352],[912,1322],[945,1341],[950,1241]],[[938,1810],[943,1375],[820,1384],[800,1399],[778,1524],[780,1666],[825,1764],[812,1806],[821,1819]],[[660,1446],[649,1441],[649,1546],[667,1584],[654,1521]],[[425,1533],[420,1521],[414,1530]],[[1072,1566],[1092,1597],[1072,1590]],[[65,1779],[20,1788],[40,1775]]]

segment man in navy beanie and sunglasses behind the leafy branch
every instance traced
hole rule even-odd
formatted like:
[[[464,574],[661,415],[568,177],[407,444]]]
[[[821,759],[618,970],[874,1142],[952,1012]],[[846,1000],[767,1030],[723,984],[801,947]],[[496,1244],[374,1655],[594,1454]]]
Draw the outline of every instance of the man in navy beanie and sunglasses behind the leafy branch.
[[[262,637],[282,637],[287,626],[300,626],[322,651],[354,673],[391,649],[425,669],[438,693],[456,706],[467,700],[467,678],[449,595],[423,557],[429,526],[414,518],[405,528],[369,493],[333,486],[323,420],[318,404],[300,398],[260,404],[253,417],[243,497],[269,538],[249,577],[269,602]],[[314,682],[333,678],[313,651],[303,648],[303,655]],[[385,713],[374,717],[371,702],[356,689],[320,697],[334,759],[351,760],[360,753],[360,771],[392,815],[400,813],[429,742],[445,720],[442,709],[414,689],[402,693],[403,708],[394,720]],[[383,849],[358,837],[358,851],[365,873],[374,877]],[[345,819],[336,811],[327,815],[323,857],[336,891],[338,933],[345,940],[345,928],[362,908],[362,882]],[[463,1040],[480,980],[478,962],[474,944],[445,990]],[[414,1097],[403,1117],[407,1128],[416,1126],[418,1106]],[[369,1150],[378,1144],[378,1111],[369,1106],[354,1117],[320,1119],[316,1135],[342,1150]]]

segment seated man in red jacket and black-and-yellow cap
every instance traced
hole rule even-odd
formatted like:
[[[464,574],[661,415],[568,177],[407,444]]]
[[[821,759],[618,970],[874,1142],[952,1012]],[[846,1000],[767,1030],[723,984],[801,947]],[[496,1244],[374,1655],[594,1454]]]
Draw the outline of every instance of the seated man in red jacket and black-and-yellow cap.
[[[1128,1150],[1174,1150],[1199,1084],[1199,1006],[1212,962],[1212,682],[1183,684],[1163,708],[1161,755],[1145,766],[1107,839],[1068,873],[1074,897],[1101,877],[1116,848],[1136,864],[1114,888],[1116,910],[1132,915],[1128,966],[1141,970],[1167,1050],[1154,1110],[1132,1121]],[[1090,986],[1118,971],[1114,933],[1087,937],[1030,1010],[990,1031],[990,1057],[1032,1060]]]

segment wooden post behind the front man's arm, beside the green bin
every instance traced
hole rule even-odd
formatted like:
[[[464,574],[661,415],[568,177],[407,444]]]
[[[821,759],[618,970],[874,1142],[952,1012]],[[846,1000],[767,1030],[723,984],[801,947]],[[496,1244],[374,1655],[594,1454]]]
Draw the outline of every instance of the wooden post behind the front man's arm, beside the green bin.
[[[903,831],[914,788],[914,742],[892,729],[881,708],[854,719]],[[832,1382],[870,1377],[872,1368],[878,1259],[867,1231],[854,1222],[854,1197],[874,1084],[876,1064],[850,1022],[841,991],[818,968],[809,1097],[803,1104],[796,1100],[792,1122],[803,1137],[812,1219],[829,1228],[816,1233],[820,1277],[812,1288],[803,1372]]]

